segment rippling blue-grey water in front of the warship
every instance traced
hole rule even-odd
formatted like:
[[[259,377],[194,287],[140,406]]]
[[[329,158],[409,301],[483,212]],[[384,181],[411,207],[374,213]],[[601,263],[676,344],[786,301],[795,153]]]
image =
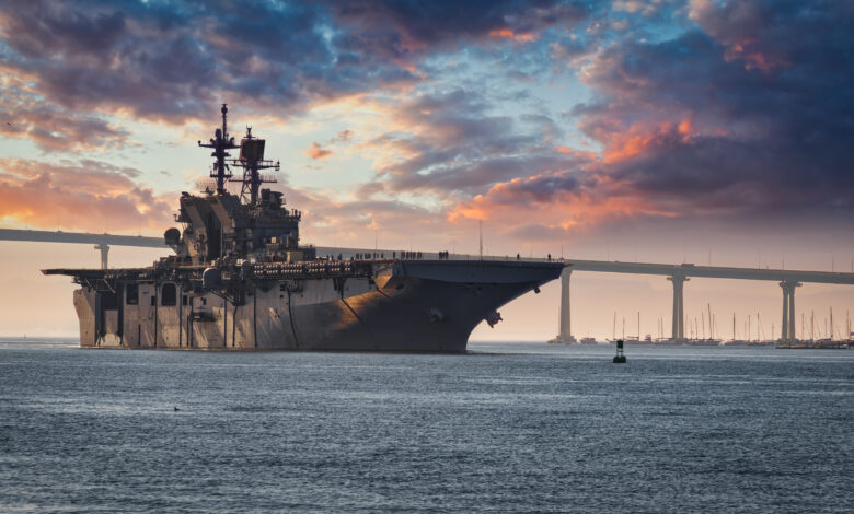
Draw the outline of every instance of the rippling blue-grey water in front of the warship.
[[[851,512],[854,351],[0,343],[0,511]],[[178,410],[175,410],[177,408]]]

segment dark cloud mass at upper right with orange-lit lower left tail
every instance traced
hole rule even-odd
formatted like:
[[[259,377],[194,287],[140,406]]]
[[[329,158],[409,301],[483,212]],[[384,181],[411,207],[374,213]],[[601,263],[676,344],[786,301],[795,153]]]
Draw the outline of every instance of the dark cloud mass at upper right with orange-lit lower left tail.
[[[672,37],[553,46],[585,62],[591,98],[564,120],[579,120],[598,159],[529,166],[451,219],[512,223],[524,209],[557,232],[626,215],[850,219],[854,9],[699,0],[684,12],[695,25]]]

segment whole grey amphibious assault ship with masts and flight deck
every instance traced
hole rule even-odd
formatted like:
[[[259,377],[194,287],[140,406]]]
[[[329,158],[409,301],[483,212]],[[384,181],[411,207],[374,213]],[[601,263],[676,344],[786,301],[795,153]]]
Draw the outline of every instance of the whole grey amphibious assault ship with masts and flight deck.
[[[463,352],[481,322],[498,323],[501,305],[561,274],[557,262],[446,253],[319,257],[300,244],[302,213],[261,189],[273,180],[259,172],[279,167],[265,140],[247,128],[235,143],[221,112],[222,127],[198,143],[214,150],[216,190],[182,194],[182,230],[164,233],[174,255],[148,268],[43,271],[80,285],[81,347]],[[226,182],[242,183],[241,195]]]

